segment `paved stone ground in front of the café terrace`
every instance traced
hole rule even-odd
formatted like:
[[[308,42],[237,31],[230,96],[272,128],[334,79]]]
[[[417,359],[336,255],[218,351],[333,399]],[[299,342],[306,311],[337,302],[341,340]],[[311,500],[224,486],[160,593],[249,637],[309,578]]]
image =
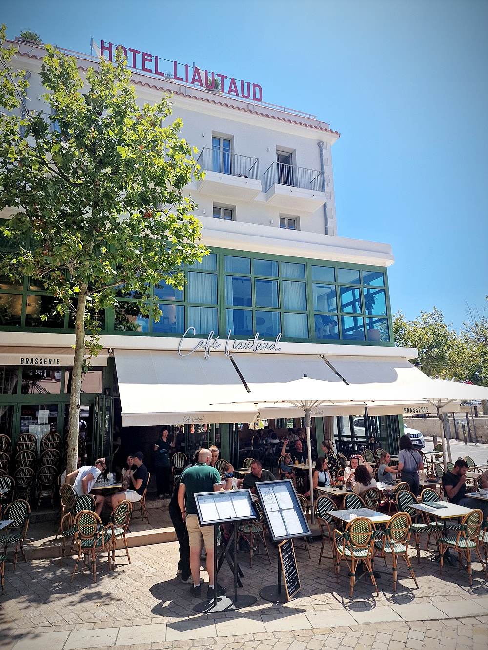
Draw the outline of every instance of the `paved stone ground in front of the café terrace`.
[[[488,581],[474,562],[473,585],[464,569],[439,565],[422,551],[413,558],[419,590],[399,568],[398,591],[392,591],[390,565],[377,560],[379,597],[372,585],[360,580],[349,598],[345,566],[339,582],[332,561],[318,565],[320,543],[310,545],[309,560],[297,549],[302,589],[286,604],[259,597],[262,586],[276,584],[277,551],[269,544],[272,564],[265,554],[239,553],[245,574],[239,593],[258,600],[238,612],[193,612],[189,586],[175,576],[177,543],[131,549],[131,564],[119,552],[118,566],[107,571],[102,556],[96,584],[88,571],[79,571],[70,583],[74,560],[18,562],[6,567],[6,595],[0,607],[0,650],[81,650],[89,647],[145,650],[173,647],[256,647],[261,650],[302,650],[351,647],[357,650],[471,648],[486,650],[488,640]],[[330,554],[327,545],[325,551]],[[207,581],[206,573],[202,577]],[[224,565],[219,581],[233,591],[233,578]],[[206,591],[206,586],[204,590]],[[198,602],[198,601],[197,601]]]

